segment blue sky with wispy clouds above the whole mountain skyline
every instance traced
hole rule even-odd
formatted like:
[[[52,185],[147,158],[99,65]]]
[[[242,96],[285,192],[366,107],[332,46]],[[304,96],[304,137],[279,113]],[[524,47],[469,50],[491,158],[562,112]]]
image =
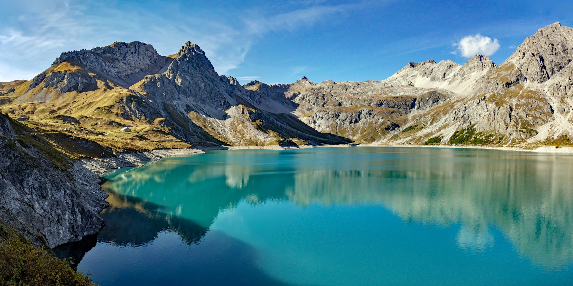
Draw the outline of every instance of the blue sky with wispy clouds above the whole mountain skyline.
[[[2,82],[115,41],[163,55],[198,43],[241,84],[383,80],[410,61],[464,63],[461,46],[501,63],[537,29],[573,26],[559,1],[0,1]]]

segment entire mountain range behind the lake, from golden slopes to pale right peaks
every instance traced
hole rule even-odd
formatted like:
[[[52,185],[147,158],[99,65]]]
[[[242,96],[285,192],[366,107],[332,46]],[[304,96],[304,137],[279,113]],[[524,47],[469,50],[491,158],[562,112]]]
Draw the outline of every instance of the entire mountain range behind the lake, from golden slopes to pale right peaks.
[[[241,86],[219,76],[191,42],[166,57],[146,43],[115,42],[62,53],[32,80],[1,83],[0,110],[37,132],[63,132],[114,150],[571,145],[572,59],[573,29],[557,22],[500,65],[475,55],[464,65],[410,62],[383,81],[303,77]],[[116,133],[125,126],[134,132]]]

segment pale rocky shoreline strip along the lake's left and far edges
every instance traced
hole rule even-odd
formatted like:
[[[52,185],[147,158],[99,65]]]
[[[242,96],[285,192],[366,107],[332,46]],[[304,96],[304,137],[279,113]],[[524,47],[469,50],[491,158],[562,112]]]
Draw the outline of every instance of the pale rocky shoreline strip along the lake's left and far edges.
[[[107,202],[105,202],[105,198],[107,198],[107,194],[101,189],[100,187],[100,178],[99,176],[105,172],[108,172],[111,169],[118,169],[118,168],[125,168],[125,167],[132,167],[132,166],[143,166],[142,162],[144,161],[157,161],[164,157],[172,157],[172,156],[186,156],[191,154],[201,154],[205,153],[205,150],[237,150],[237,149],[300,149],[300,148],[332,148],[332,147],[410,147],[410,148],[463,148],[463,149],[491,149],[491,150],[505,150],[505,151],[521,151],[521,152],[543,152],[543,153],[573,153],[573,147],[563,146],[559,148],[555,148],[555,146],[542,146],[536,149],[525,149],[519,147],[493,147],[493,146],[456,146],[456,145],[401,145],[401,144],[393,144],[393,145],[383,145],[383,144],[340,144],[340,145],[320,145],[320,146],[210,146],[210,147],[199,147],[199,148],[180,148],[180,149],[157,149],[157,150],[143,150],[141,152],[115,152],[115,156],[113,157],[103,157],[103,158],[90,158],[90,159],[83,159],[73,162],[72,168],[68,169],[68,172],[72,174],[74,181],[77,181],[81,184],[81,187],[78,187],[77,193],[79,193],[80,197],[82,198],[85,203],[89,205],[88,209],[91,209],[93,215],[97,216],[101,210],[107,207]],[[78,185],[80,185],[78,184]],[[69,200],[62,199],[62,201],[68,202]],[[39,204],[36,204],[39,205]],[[72,209],[77,208],[74,206]],[[34,208],[32,208],[34,209]],[[45,210],[49,212],[49,210]],[[37,210],[34,212],[38,213]],[[97,216],[99,219],[99,216]],[[92,235],[98,232],[98,225],[101,226],[103,221],[100,223],[94,222],[89,225],[85,225],[85,223],[80,223],[79,221],[76,223],[72,223],[69,221],[65,223],[65,225],[73,225],[72,229],[80,229],[80,228],[87,228],[85,231],[77,233],[76,235],[65,235],[62,227],[56,227],[52,225],[49,227],[48,225],[44,226],[44,229],[37,228],[37,226],[32,227],[32,225],[28,225],[24,223],[27,221],[24,219],[22,221],[22,215],[19,217],[14,215],[10,212],[0,212],[0,219],[5,222],[5,224],[9,224],[10,221],[20,221],[20,224],[16,225],[16,228],[19,232],[23,235],[28,237],[34,245],[37,247],[44,245],[48,248],[56,247],[57,245],[79,241],[82,239],[83,236]],[[93,219],[96,219],[94,217]],[[32,222],[34,219],[30,219]],[[37,228],[34,230],[34,228]],[[90,230],[91,229],[91,230]],[[58,233],[58,235],[56,235]],[[71,232],[70,232],[71,234]]]

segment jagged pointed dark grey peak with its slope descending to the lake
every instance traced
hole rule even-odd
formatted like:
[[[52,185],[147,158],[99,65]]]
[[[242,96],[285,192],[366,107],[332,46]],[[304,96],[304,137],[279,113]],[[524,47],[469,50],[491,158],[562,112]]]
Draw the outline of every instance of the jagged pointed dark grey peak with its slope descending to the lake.
[[[166,72],[147,76],[131,87],[163,117],[182,118],[179,126],[190,136],[204,134],[227,144],[340,143],[345,139],[316,132],[288,112],[273,109],[269,100],[257,97],[232,77],[218,76],[205,52],[187,42],[174,56]],[[277,100],[280,100],[275,98]],[[282,104],[286,103],[284,96]],[[281,143],[282,142],[282,143]],[[311,144],[312,144],[311,143]]]

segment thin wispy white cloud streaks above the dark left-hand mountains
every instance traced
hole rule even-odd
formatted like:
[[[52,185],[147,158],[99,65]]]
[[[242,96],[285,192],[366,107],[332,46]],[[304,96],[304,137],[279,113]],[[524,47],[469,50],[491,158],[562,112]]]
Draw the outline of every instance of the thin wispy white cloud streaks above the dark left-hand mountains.
[[[21,72],[0,73],[0,81],[30,79],[64,51],[134,40],[150,43],[164,55],[175,53],[185,41],[198,43],[215,70],[225,74],[244,62],[266,33],[304,29],[360,7],[309,1],[284,12],[269,8],[221,15],[198,10],[190,15],[179,12],[178,3],[157,2],[163,7],[153,10],[114,3],[25,0],[13,5],[13,21],[0,22],[0,65]]]

